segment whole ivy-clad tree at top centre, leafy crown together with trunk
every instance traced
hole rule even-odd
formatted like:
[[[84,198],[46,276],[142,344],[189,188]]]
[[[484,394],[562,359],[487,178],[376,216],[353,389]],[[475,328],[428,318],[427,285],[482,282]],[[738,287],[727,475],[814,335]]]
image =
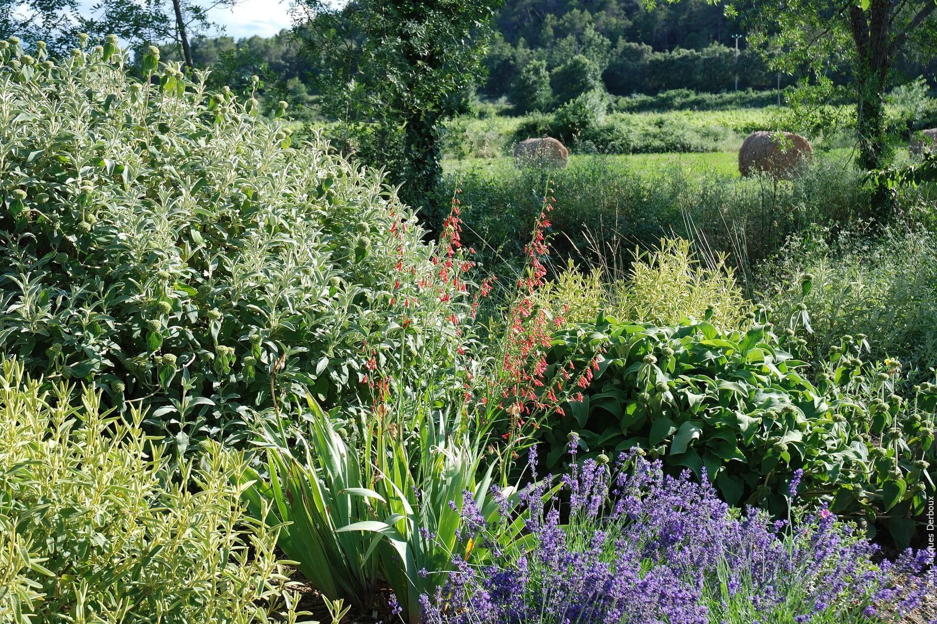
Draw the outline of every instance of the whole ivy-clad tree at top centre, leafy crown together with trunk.
[[[402,134],[402,196],[419,205],[435,189],[439,124],[482,77],[482,58],[499,0],[355,0],[336,9],[298,0],[295,34],[319,65],[323,109],[343,123],[373,123],[384,149]]]

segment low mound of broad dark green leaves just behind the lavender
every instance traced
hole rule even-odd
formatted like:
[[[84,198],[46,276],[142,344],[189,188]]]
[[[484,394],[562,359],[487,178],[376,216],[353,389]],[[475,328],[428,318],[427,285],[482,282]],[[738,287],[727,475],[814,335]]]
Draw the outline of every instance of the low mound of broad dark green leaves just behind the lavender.
[[[802,341],[775,336],[760,314],[745,332],[614,319],[558,332],[554,361],[584,342],[601,361],[570,415],[543,430],[547,464],[575,431],[593,452],[636,445],[673,469],[706,468],[726,501],[776,515],[803,470],[805,497],[908,544],[935,491],[934,389],[894,394],[900,363],[863,362],[864,341],[840,343],[811,381],[792,355]]]

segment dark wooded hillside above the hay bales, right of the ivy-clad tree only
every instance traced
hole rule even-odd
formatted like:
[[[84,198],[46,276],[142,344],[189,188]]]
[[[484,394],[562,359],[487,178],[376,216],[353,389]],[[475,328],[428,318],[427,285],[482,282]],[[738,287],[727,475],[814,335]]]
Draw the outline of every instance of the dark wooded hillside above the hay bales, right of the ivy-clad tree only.
[[[650,10],[639,0],[519,0],[499,11],[496,26],[483,93],[512,100],[523,99],[528,83],[521,75],[529,64],[568,74],[563,65],[577,55],[598,67],[612,94],[731,90],[736,74],[740,89],[763,89],[775,79],[744,39],[736,59],[733,36],[742,31],[706,0]],[[562,91],[558,104],[567,100]]]

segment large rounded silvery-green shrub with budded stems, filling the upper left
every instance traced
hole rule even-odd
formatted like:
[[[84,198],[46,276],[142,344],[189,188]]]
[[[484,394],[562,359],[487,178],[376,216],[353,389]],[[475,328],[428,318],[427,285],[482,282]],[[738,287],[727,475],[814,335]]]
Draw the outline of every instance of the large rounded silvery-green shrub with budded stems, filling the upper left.
[[[54,62],[0,50],[0,351],[122,410],[145,399],[181,446],[433,366],[423,328],[452,311],[381,173],[294,141],[285,105],[264,119],[114,41]]]

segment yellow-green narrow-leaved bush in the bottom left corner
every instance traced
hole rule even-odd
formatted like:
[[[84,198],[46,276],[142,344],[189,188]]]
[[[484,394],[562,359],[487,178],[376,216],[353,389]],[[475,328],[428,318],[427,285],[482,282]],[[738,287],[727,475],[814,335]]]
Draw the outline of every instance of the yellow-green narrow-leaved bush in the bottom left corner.
[[[0,361],[0,621],[295,622],[276,530],[232,485],[243,453],[171,470],[140,410],[99,399]]]

